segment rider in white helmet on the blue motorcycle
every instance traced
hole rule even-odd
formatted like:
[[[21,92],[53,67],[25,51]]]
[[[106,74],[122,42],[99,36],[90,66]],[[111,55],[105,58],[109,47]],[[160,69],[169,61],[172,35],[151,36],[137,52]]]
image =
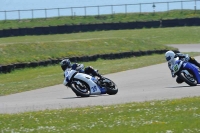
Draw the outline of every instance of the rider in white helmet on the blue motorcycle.
[[[175,64],[175,61],[176,61],[177,59],[182,60],[182,61],[186,61],[186,62],[190,62],[190,63],[192,63],[192,64],[194,64],[194,65],[196,65],[197,67],[200,68],[200,63],[198,63],[198,62],[194,59],[194,57],[190,57],[188,54],[174,53],[173,51],[169,50],[169,51],[167,51],[167,52],[165,53],[165,58],[166,58],[166,60],[167,60],[167,62],[168,62],[168,67],[169,67],[169,69],[171,70],[171,74],[172,74],[172,77],[173,77],[173,78],[176,77],[176,75],[174,75],[173,69],[172,69],[171,66]],[[182,83],[183,81],[182,81],[179,77],[177,77],[177,78],[176,78],[176,82],[180,84],[180,83]]]

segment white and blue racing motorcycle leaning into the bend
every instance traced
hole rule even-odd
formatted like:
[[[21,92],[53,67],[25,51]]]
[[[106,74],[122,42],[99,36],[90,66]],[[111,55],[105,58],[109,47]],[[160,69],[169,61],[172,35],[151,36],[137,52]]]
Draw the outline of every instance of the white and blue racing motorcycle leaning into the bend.
[[[71,88],[77,96],[115,95],[118,92],[117,85],[106,77],[99,79],[88,74],[78,73],[71,68],[65,71],[65,75],[63,84]]]

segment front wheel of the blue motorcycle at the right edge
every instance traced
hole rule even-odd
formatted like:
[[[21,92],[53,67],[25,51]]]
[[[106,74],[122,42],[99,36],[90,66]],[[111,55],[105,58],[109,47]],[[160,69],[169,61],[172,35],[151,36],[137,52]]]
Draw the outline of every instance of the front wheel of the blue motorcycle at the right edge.
[[[180,72],[178,77],[181,78],[185,83],[187,83],[190,86],[196,86],[197,85],[197,80],[195,79],[195,77],[193,76],[192,73],[190,73],[190,75],[188,75],[184,72]]]

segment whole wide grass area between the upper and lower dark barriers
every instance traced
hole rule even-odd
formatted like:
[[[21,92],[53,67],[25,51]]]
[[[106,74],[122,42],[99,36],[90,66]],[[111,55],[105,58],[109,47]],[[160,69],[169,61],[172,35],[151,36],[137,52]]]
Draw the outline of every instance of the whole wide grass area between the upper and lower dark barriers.
[[[0,64],[172,49],[163,44],[198,44],[199,35],[200,27],[194,26],[1,38]]]

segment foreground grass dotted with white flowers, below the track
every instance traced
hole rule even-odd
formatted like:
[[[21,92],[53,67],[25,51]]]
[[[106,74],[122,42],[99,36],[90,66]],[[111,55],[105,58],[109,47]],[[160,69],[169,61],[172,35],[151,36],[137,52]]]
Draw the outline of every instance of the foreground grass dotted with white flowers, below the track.
[[[200,132],[200,97],[0,115],[1,132]]]

